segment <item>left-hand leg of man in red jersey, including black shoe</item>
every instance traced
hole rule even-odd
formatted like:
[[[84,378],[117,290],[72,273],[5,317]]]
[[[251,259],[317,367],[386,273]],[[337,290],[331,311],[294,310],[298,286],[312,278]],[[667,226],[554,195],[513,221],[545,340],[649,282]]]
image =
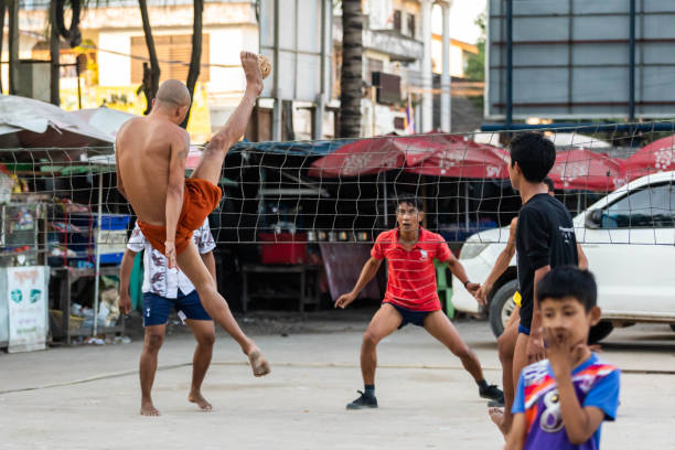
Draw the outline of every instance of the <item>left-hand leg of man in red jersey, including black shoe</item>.
[[[363,334],[361,344],[361,375],[365,390],[361,397],[347,404],[347,409],[377,407],[375,399],[375,369],[377,368],[377,344],[392,334],[400,323],[403,317],[389,303],[383,303]]]

